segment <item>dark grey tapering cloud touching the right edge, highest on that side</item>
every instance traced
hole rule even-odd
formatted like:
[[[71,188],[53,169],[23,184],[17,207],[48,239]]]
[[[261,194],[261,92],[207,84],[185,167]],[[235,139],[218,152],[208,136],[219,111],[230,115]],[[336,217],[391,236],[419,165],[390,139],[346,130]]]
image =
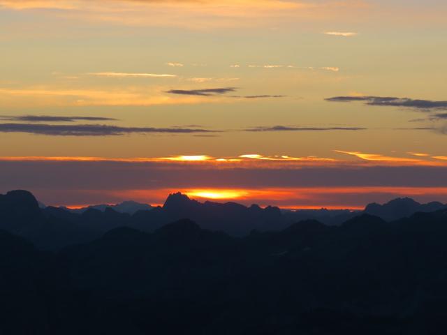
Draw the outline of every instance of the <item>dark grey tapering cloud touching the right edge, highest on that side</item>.
[[[447,101],[419,100],[411,98],[396,98],[390,96],[335,96],[326,101],[350,103],[362,101],[373,106],[406,107],[417,110],[447,110]]]

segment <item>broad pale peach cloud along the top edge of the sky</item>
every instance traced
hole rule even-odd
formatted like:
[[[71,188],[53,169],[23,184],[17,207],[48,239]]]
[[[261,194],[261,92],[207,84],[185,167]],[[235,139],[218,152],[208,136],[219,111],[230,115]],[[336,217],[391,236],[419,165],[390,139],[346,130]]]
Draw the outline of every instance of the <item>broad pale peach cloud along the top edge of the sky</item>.
[[[68,20],[182,29],[272,25],[280,18],[309,17],[313,10],[330,13],[333,7],[295,0],[0,0],[0,8],[41,9]]]

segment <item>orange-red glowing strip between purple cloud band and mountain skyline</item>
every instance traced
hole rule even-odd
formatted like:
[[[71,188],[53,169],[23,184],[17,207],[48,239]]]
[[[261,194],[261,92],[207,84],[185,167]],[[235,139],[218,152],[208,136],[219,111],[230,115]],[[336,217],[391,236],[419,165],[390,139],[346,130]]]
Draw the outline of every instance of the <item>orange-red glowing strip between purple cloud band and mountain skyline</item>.
[[[217,202],[238,202],[245,206],[258,204],[261,207],[274,206],[281,209],[364,209],[369,202],[382,200],[392,200],[393,198],[431,197],[432,200],[447,199],[447,187],[318,187],[318,188],[191,188],[179,189],[181,193],[188,195],[191,199],[199,202],[206,200]],[[119,191],[90,191],[91,193],[104,197],[104,202],[95,201],[94,204],[117,204],[126,200],[133,200],[144,204],[151,204],[153,207],[161,206],[167,196],[173,193],[173,189],[153,189],[153,190],[119,190]],[[362,195],[362,197],[360,197]],[[371,195],[370,200],[365,200],[365,195]],[[337,199],[337,201],[334,201]],[[361,199],[358,201],[358,199]],[[430,200],[430,201],[432,201]],[[383,201],[383,202],[386,202]],[[445,200],[444,200],[445,201]],[[45,202],[45,201],[44,201]],[[50,202],[47,202],[50,204]],[[64,204],[54,206],[64,206],[69,209],[80,209],[89,207],[89,204]]]

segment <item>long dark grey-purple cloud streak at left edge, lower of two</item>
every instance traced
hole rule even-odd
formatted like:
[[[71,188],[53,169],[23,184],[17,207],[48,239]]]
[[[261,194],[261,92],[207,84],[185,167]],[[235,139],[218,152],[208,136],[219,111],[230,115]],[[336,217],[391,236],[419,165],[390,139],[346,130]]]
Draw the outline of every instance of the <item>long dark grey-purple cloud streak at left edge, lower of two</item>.
[[[0,124],[0,133],[30,133],[52,136],[110,136],[132,133],[216,133],[199,128],[152,128],[152,127],[119,127],[101,124],[54,125],[54,124]]]

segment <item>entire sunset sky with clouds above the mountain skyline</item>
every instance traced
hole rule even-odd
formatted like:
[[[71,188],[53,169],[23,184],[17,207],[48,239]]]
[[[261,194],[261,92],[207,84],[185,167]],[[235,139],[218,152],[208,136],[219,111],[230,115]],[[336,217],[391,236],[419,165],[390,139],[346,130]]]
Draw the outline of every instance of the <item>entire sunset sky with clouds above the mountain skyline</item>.
[[[0,193],[447,202],[446,1],[0,0]]]

